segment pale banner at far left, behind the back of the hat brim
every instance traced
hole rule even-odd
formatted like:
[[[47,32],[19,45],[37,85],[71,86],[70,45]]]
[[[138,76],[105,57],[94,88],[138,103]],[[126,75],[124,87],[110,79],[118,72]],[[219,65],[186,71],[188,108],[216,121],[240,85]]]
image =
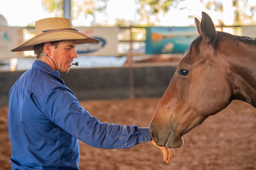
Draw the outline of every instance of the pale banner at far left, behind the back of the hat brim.
[[[23,43],[23,27],[0,27],[0,59],[23,57],[23,52],[11,52]]]

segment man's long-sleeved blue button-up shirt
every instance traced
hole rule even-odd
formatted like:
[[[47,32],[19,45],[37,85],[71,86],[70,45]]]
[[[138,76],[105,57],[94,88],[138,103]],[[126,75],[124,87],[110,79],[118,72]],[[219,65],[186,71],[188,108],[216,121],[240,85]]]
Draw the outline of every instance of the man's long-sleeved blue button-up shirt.
[[[79,104],[59,72],[35,60],[9,95],[12,169],[79,169],[78,139],[97,148],[150,141],[149,128],[102,123]]]

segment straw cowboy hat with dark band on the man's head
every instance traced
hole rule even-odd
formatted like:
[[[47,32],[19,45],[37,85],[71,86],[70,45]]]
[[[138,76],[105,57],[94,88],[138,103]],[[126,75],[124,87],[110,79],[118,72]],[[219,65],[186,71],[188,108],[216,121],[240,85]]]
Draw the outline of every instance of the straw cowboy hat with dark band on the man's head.
[[[98,43],[99,40],[88,37],[72,27],[68,18],[46,18],[35,22],[35,37],[11,51],[30,51],[34,45],[59,41],[75,40],[75,44]]]

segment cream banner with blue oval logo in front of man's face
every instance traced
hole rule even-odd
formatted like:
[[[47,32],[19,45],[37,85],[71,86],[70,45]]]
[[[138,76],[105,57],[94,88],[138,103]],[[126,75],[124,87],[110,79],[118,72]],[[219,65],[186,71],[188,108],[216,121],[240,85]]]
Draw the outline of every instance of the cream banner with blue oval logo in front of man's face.
[[[117,56],[118,27],[77,27],[79,32],[98,39],[99,43],[77,44],[78,56]]]

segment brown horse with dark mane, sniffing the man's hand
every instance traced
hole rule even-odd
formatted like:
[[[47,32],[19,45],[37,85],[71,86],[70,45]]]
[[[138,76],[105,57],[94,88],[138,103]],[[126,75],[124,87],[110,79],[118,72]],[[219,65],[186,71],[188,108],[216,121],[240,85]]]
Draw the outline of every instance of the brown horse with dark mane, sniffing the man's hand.
[[[232,100],[256,107],[256,40],[215,31],[205,12],[199,36],[177,66],[150,124],[159,146],[181,147],[182,135]]]

